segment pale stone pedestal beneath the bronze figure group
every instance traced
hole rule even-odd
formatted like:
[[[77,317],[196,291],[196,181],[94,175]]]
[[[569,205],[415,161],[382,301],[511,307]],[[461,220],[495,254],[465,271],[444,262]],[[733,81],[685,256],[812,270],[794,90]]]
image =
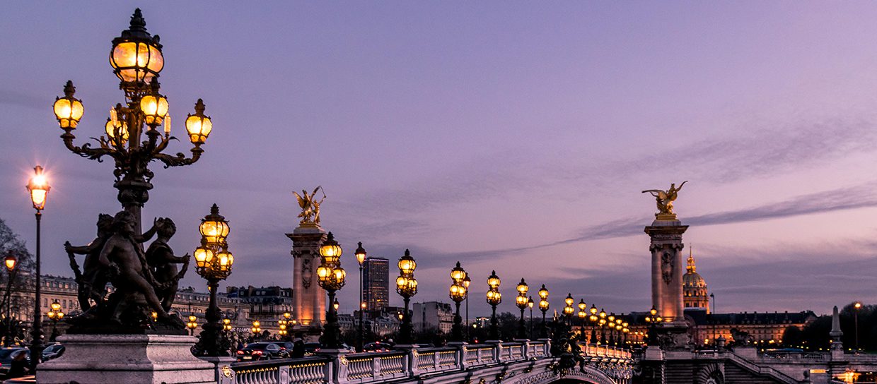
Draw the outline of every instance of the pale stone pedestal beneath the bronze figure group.
[[[65,335],[55,360],[39,365],[45,384],[215,383],[216,367],[191,353],[196,339],[178,335]]]

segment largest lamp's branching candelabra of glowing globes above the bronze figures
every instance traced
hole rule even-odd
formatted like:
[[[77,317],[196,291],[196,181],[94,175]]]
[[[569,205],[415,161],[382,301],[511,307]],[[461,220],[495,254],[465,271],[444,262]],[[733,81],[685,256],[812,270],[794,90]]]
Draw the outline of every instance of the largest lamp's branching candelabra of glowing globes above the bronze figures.
[[[92,148],[88,143],[74,144],[73,131],[78,127],[84,108],[75,98],[73,81],[64,87],[64,96],[55,99],[53,112],[64,133],[61,139],[73,153],[101,161],[112,157],[115,164],[118,200],[125,211],[136,218],[135,231],[140,232],[140,210],[149,199],[153,188],[153,171],[148,164],[158,160],[165,168],[193,164],[201,157],[201,145],[213,127],[210,116],[204,115],[204,103],[198,99],[195,114],[185,121],[186,136],[193,144],[191,157],[182,153],[163,153],[175,139],[170,136],[168,99],[160,94],[159,73],[164,68],[164,56],[158,36],[146,31],[146,21],[139,9],[134,10],[131,23],[121,36],[112,40],[110,65],[120,80],[119,88],[125,93],[125,102],[110,110],[110,118],[104,124],[106,136],[96,139]],[[159,125],[164,124],[164,135]],[[146,135],[146,139],[142,137]]]

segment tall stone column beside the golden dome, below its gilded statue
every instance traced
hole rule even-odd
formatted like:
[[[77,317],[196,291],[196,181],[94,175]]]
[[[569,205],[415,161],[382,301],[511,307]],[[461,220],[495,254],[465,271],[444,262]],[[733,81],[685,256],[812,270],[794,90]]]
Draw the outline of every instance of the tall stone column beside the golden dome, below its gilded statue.
[[[652,238],[652,306],[667,322],[684,323],[682,302],[682,234],[688,226],[673,217],[659,216],[645,233]]]

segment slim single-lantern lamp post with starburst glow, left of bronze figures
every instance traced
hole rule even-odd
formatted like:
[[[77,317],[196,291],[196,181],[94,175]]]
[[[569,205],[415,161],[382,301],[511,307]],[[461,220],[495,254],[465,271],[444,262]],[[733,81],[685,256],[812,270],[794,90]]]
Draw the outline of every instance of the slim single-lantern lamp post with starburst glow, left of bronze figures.
[[[42,303],[42,298],[40,297],[40,290],[42,286],[42,282],[40,282],[39,274],[40,269],[40,260],[39,260],[39,222],[43,217],[43,208],[46,207],[46,197],[49,194],[49,183],[46,179],[46,175],[43,174],[43,167],[37,165],[33,168],[33,177],[27,182],[27,192],[31,195],[31,204],[33,205],[33,209],[37,210],[36,218],[37,218],[37,265],[36,265],[36,277],[35,282],[36,286],[34,287],[34,297],[33,297],[33,329],[31,330],[32,342],[31,342],[31,356],[34,356],[31,359],[31,372],[36,372],[37,365],[39,365],[39,359],[36,358],[38,356],[42,356],[43,346],[42,346],[42,337],[43,337],[43,314],[39,311],[40,304]]]

